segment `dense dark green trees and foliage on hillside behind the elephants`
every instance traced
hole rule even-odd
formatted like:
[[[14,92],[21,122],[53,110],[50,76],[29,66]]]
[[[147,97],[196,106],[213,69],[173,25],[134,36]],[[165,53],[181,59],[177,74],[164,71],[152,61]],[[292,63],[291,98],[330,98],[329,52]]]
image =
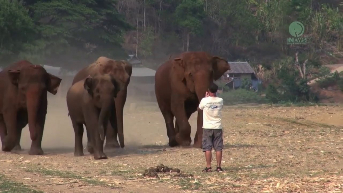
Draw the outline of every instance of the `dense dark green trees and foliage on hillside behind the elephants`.
[[[269,100],[313,101],[307,81],[343,57],[342,8],[340,0],[0,0],[0,65],[79,69],[102,55],[137,54],[157,68],[172,54],[208,51],[248,61]],[[293,21],[303,23],[306,45],[287,45]],[[242,88],[251,91],[245,80]]]

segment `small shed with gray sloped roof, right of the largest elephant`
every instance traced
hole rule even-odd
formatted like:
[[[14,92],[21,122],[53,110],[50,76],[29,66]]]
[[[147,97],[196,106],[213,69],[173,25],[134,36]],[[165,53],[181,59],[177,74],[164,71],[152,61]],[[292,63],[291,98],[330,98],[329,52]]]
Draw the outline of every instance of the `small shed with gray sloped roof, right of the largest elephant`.
[[[243,79],[248,79],[251,81],[252,87],[257,90],[261,81],[258,80],[255,71],[248,62],[229,61],[228,63],[231,70],[226,71],[221,77],[221,80],[226,82],[226,86],[236,89],[240,87]]]

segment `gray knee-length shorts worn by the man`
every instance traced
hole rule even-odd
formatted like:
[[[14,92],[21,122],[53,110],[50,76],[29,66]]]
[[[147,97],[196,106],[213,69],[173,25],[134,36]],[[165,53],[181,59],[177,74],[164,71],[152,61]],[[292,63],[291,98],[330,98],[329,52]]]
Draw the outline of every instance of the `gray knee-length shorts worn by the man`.
[[[222,129],[203,129],[202,151],[222,151],[224,142],[222,139]]]

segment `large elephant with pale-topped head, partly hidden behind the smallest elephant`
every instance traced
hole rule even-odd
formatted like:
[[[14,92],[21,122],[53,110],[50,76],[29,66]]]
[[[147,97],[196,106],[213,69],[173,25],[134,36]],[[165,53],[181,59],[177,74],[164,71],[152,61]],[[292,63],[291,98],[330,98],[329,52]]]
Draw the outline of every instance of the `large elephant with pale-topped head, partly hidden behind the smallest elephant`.
[[[112,60],[107,57],[99,57],[94,63],[80,70],[74,77],[72,85],[76,82],[86,78],[87,76],[94,76],[95,74],[110,74],[118,82],[119,92],[114,98],[115,105],[115,127],[111,129],[109,124],[106,133],[105,148],[117,148],[119,143],[117,137],[119,136],[120,147],[124,148],[124,125],[123,125],[123,111],[127,98],[127,86],[130,83],[132,75],[132,66],[125,60]],[[89,133],[88,144],[89,144]],[[88,145],[89,147],[89,145]],[[88,149],[92,153],[92,149]]]

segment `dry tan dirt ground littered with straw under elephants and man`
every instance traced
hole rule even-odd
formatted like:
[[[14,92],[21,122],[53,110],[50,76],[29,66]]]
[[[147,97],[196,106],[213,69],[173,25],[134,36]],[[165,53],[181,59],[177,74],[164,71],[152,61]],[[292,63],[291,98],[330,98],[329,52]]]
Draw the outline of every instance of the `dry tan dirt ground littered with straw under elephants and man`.
[[[0,192],[343,191],[340,106],[227,106],[223,112],[225,172],[202,173],[201,149],[168,147],[156,103],[135,101],[133,109],[132,101],[125,107],[125,148],[105,151],[108,159],[94,160],[86,149],[85,156],[74,157],[65,98],[50,94],[42,142],[45,154],[28,155],[31,141],[24,128],[24,151],[0,152]],[[196,117],[190,118],[192,138]],[[215,169],[215,156],[212,159]],[[163,173],[157,178],[142,175],[159,164],[182,173]]]

